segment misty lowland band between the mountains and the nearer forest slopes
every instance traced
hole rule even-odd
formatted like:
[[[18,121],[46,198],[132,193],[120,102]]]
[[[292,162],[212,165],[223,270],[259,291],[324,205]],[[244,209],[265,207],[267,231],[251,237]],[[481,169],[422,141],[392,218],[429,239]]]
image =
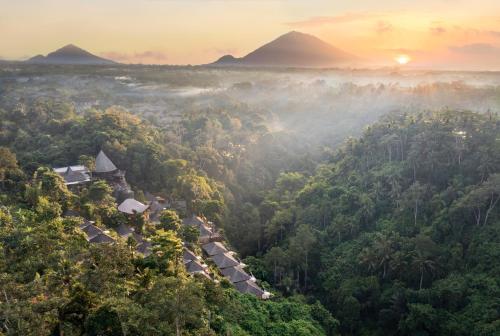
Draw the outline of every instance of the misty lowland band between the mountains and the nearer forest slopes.
[[[338,144],[391,113],[498,113],[500,73],[182,67],[0,69],[4,104],[55,98],[77,112],[117,105],[158,126],[200,110],[257,113],[272,132]]]

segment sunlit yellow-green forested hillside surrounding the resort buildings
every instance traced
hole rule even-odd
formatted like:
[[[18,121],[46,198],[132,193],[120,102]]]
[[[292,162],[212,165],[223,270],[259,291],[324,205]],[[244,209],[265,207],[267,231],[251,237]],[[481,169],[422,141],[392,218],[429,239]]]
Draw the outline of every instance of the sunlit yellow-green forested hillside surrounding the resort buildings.
[[[153,252],[133,240],[90,244],[78,212],[102,227],[123,221],[111,188],[71,192],[48,167],[92,166],[100,149],[143,191],[187,201],[186,211],[224,215],[224,186],[196,168],[188,147],[114,108],[76,115],[52,100],[0,110],[1,335],[333,335],[338,322],[302,296],[262,301],[229,282],[188,276],[182,232],[141,223]],[[186,214],[183,214],[186,215]]]

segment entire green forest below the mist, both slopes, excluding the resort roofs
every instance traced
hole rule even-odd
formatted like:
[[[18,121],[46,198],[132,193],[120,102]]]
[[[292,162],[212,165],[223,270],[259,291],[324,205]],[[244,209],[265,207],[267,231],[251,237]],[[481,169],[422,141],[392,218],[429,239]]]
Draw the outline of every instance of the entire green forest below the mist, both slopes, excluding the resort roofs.
[[[495,114],[394,112],[314,152],[259,113],[207,109],[158,126],[39,99],[0,114],[4,334],[499,333]],[[180,234],[158,259],[89,245],[61,216],[78,208],[115,225],[109,191],[74,195],[38,168],[91,166],[100,149],[137,195],[184,199],[223,228],[275,298],[188,277],[168,257]]]

